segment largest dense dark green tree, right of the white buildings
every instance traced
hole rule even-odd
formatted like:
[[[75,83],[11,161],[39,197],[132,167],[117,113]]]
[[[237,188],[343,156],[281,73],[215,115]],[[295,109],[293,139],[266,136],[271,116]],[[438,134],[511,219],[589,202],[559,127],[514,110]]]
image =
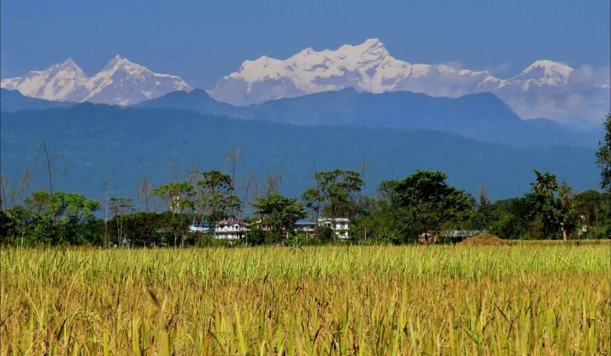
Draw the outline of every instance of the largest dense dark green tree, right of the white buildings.
[[[411,222],[422,231],[441,233],[442,225],[471,208],[464,191],[448,185],[447,175],[439,171],[417,170],[395,185],[399,203],[408,209]]]

